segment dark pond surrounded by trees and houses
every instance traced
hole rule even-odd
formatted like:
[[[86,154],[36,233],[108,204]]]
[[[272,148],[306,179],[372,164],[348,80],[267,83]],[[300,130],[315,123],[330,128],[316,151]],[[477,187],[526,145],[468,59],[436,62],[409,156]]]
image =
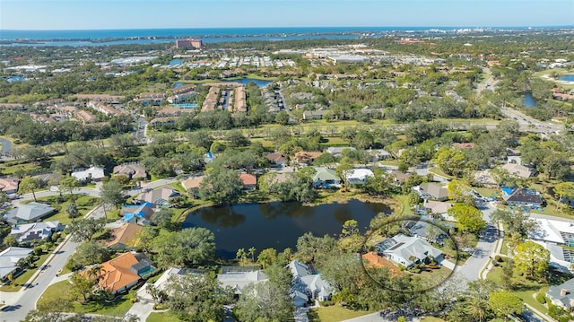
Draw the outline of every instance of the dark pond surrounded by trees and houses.
[[[234,258],[238,248],[295,250],[297,239],[311,231],[316,236],[338,236],[343,223],[358,222],[366,231],[377,213],[390,213],[383,204],[350,200],[346,204],[305,206],[300,203],[240,204],[206,207],[187,215],[183,228],[205,227],[215,234],[217,255]]]

